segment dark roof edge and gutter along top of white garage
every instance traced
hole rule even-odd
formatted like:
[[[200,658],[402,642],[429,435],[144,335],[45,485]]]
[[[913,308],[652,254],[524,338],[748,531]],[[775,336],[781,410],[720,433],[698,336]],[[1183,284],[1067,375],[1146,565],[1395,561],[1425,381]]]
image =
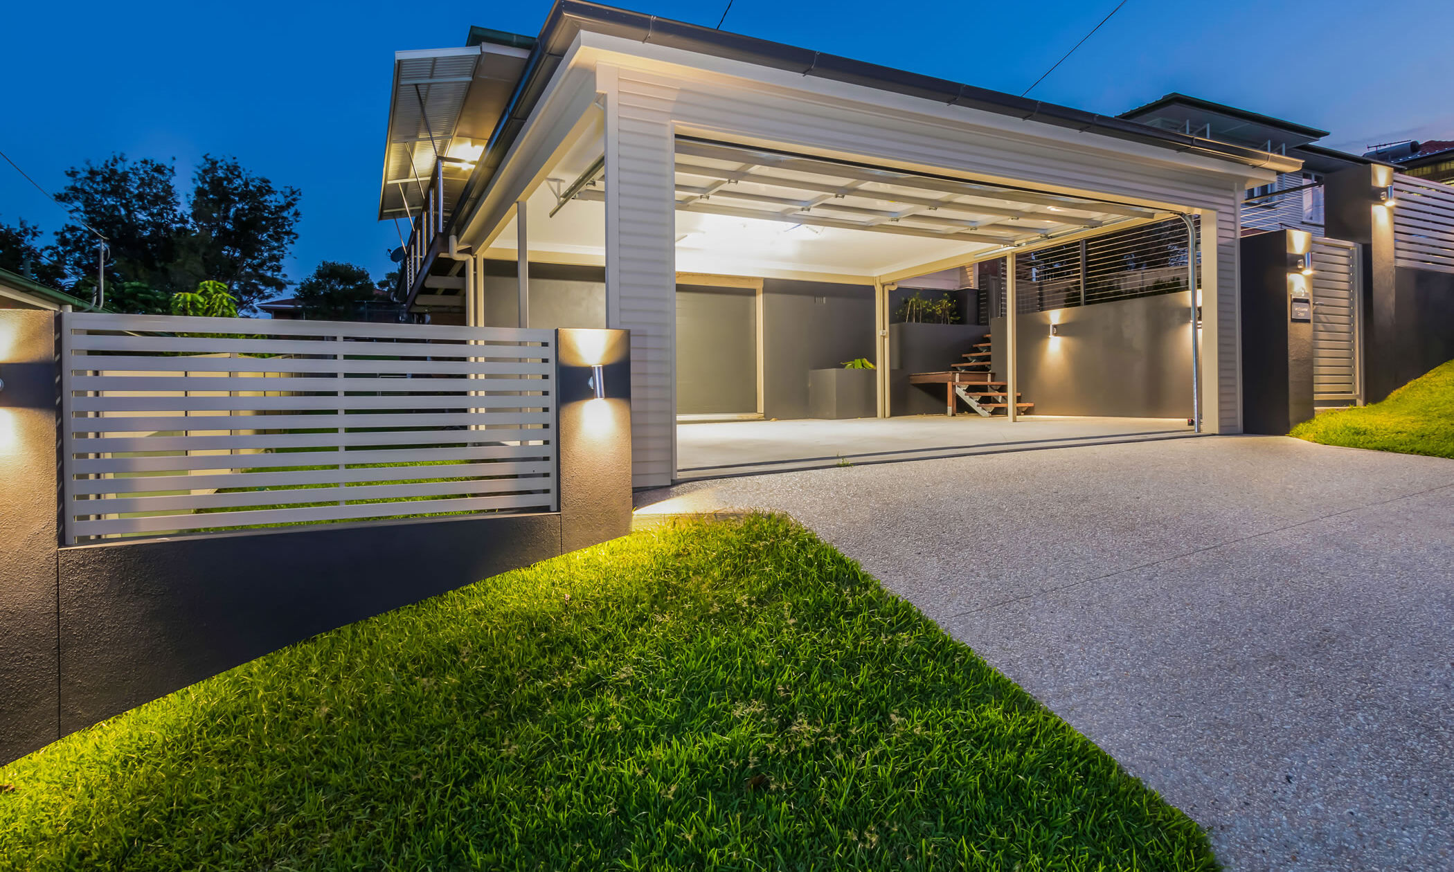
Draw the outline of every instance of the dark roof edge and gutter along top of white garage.
[[[550,15],[545,16],[545,25],[541,28],[531,57],[525,64],[521,81],[516,84],[515,93],[510,96],[510,102],[500,116],[500,122],[490,135],[490,144],[459,195],[461,206],[449,218],[449,224],[445,228],[446,237],[451,233],[457,233],[461,225],[473,218],[474,211],[478,208],[480,195],[494,176],[494,170],[505,160],[505,154],[515,142],[515,137],[525,126],[525,119],[529,116],[535,100],[545,90],[551,74],[560,65],[560,60],[570,49],[570,44],[580,31],[609,33],[638,42],[667,45],[762,67],[790,70],[803,76],[817,76],[848,84],[938,100],[951,106],[965,106],[1024,121],[1038,121],[1076,131],[1089,131],[1118,140],[1170,148],[1179,153],[1207,154],[1250,167],[1265,166],[1272,158],[1271,154],[1256,148],[1162,131],[1111,115],[1095,115],[973,84],[868,64],[769,39],[758,39],[756,36],[712,31],[711,28],[688,25],[614,6],[602,6],[585,0],[557,0]]]

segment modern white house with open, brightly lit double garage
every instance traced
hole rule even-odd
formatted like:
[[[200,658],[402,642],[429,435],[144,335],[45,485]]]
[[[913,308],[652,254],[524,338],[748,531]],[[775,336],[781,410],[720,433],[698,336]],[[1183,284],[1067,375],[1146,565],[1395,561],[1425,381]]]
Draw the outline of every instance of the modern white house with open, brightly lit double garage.
[[[1325,173],[1362,173],[1362,206],[1391,173],[1322,135],[1179,94],[1092,115],[560,0],[537,38],[397,54],[379,218],[410,224],[416,317],[631,331],[647,487],[768,462],[790,419],[1242,432],[1239,240],[1317,233]],[[830,372],[855,359],[877,368]],[[715,459],[683,456],[704,439]]]

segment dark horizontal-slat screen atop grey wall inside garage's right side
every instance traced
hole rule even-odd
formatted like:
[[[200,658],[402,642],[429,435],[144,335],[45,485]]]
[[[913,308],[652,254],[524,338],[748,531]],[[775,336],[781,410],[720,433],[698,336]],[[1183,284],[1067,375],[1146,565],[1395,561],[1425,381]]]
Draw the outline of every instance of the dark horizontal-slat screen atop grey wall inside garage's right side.
[[[1194,222],[1200,218],[1194,217]],[[1186,292],[1186,225],[1154,221],[1015,259],[1021,314]],[[1200,250],[1198,250],[1200,270]]]

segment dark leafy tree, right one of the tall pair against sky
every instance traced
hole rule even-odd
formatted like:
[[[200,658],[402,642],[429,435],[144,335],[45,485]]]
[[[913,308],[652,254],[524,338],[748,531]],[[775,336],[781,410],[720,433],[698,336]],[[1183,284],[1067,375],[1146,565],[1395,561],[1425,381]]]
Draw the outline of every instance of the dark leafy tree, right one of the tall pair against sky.
[[[199,278],[227,285],[244,311],[286,288],[284,260],[298,238],[298,189],[276,189],[237,158],[211,154],[202,156],[192,186],[188,244]]]

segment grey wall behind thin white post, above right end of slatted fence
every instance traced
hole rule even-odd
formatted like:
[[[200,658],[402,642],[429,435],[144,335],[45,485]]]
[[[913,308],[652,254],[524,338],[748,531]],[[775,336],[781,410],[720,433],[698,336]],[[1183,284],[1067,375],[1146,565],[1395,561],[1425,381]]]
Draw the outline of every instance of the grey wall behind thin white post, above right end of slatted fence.
[[[513,260],[486,260],[481,279],[484,324],[519,326],[519,283]],[[599,266],[532,263],[531,327],[605,327],[606,270]]]

